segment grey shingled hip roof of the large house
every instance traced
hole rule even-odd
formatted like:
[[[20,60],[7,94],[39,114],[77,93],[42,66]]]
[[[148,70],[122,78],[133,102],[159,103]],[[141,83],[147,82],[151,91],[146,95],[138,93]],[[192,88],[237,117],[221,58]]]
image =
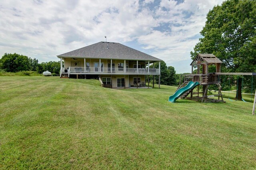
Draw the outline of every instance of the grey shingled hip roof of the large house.
[[[146,60],[162,61],[156,57],[142,53],[120,43],[98,42],[68,53],[57,55],[70,58],[92,58],[92,59],[122,59],[122,60]]]

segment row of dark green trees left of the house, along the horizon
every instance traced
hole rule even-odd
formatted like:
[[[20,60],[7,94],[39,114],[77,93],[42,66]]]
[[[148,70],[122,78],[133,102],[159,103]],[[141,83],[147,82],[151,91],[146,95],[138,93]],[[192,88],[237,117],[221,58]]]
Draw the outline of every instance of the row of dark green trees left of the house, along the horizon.
[[[60,61],[38,63],[38,59],[25,55],[5,53],[0,59],[0,69],[6,72],[35,71],[42,74],[48,70],[53,75],[60,74]]]

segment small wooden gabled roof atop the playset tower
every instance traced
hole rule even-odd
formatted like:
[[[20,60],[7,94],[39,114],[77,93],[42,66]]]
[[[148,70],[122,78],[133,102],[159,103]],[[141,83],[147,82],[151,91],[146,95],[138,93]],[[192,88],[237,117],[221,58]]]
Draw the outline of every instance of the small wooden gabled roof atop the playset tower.
[[[216,63],[223,63],[213,54],[198,54],[196,58],[192,61],[190,65],[196,65],[198,62],[206,63],[206,64],[216,64]]]

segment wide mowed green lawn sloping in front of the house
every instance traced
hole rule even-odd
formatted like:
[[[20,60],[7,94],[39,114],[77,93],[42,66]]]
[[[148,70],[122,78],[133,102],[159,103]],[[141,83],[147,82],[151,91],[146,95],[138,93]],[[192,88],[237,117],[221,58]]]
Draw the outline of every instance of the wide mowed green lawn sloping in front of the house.
[[[256,169],[252,103],[0,77],[0,169]]]

